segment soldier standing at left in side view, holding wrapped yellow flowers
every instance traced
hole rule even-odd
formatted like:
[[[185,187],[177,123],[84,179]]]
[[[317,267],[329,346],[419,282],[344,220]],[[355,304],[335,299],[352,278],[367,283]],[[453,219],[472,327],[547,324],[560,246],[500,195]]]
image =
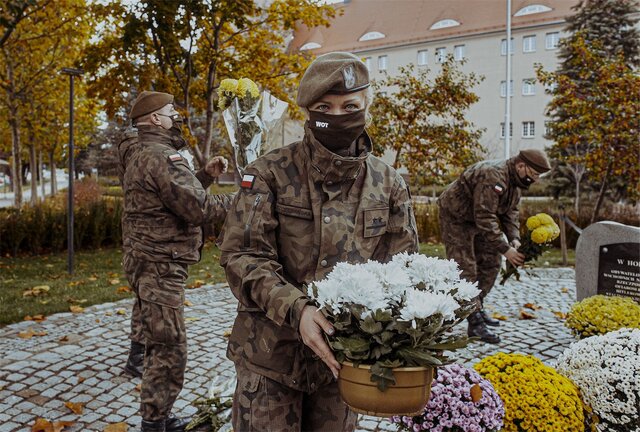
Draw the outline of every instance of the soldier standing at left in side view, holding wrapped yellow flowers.
[[[213,158],[193,174],[177,152],[185,141],[170,94],[142,92],[130,117],[137,133],[127,132],[118,146],[123,266],[136,293],[130,357],[137,358],[130,362],[144,356],[142,430],[182,431],[188,421],[173,416],[171,408],[187,363],[184,283],[188,265],[200,260],[201,226],[223,220],[229,208],[231,197],[208,195],[205,189],[224,172],[226,160]]]

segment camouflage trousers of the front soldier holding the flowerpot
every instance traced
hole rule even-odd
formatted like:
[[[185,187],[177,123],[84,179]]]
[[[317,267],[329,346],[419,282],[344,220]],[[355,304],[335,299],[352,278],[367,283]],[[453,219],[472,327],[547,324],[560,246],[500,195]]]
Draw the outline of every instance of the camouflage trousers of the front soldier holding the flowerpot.
[[[358,416],[342,401],[336,382],[304,393],[244,367],[236,367],[236,373],[234,431],[340,432],[356,427]]]

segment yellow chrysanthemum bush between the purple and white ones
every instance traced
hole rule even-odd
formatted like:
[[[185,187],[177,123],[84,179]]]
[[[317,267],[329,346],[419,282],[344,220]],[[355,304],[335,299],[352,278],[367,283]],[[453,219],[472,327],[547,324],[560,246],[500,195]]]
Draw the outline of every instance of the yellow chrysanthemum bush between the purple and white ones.
[[[475,369],[504,402],[504,431],[582,431],[584,407],[577,387],[539,359],[498,353]]]

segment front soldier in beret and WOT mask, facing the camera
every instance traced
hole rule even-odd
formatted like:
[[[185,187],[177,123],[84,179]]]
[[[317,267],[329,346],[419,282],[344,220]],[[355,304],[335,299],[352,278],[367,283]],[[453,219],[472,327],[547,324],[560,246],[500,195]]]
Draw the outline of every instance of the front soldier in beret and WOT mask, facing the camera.
[[[417,251],[407,186],[370,153],[368,87],[356,56],[314,60],[297,97],[309,115],[303,140],[251,164],[229,211],[220,262],[238,298],[227,351],[237,371],[234,430],[355,427],[323,336],[333,328],[304,286],[342,261]]]

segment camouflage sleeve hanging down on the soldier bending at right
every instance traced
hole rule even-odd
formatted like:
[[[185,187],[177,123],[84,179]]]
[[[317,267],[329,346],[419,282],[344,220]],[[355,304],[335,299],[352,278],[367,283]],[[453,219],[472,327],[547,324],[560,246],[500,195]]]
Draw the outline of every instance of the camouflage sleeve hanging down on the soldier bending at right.
[[[509,250],[509,244],[504,241],[497,216],[499,191],[495,189],[495,181],[480,182],[473,190],[473,213],[476,227],[484,234],[485,240],[501,254]]]

